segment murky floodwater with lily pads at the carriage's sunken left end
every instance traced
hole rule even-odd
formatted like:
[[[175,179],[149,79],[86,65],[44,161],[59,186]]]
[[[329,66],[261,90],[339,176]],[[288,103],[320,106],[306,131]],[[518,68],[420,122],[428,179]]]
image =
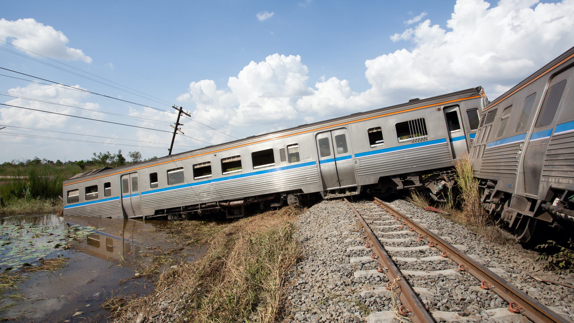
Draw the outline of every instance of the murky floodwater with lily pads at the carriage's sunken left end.
[[[38,266],[42,259],[69,258],[59,270],[23,274],[28,279],[16,290],[0,295],[2,321],[107,322],[102,303],[111,297],[149,294],[153,283],[137,278],[139,273],[154,256],[181,247],[162,232],[166,221],[160,220],[53,214],[1,220],[0,271]],[[205,247],[186,247],[170,257],[194,260],[204,253]]]

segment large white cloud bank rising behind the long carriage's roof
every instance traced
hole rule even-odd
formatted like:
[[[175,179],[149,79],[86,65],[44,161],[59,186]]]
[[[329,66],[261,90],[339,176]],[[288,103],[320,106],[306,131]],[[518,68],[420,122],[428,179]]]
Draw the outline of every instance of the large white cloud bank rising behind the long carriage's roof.
[[[444,27],[425,20],[390,38],[405,48],[365,61],[363,92],[336,76],[308,84],[301,57],[277,53],[251,61],[227,87],[193,81],[178,100],[255,134],[479,85],[494,99],[574,44],[574,0],[459,0]]]

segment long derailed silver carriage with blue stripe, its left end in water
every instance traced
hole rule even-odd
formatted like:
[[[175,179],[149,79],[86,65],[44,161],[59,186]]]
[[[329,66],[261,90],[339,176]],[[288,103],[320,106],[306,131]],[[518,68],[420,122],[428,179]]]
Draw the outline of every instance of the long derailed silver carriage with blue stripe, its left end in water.
[[[429,189],[436,197],[440,181],[453,180],[453,158],[468,152],[486,102],[478,87],[92,170],[64,182],[64,213],[241,216],[250,204],[296,204],[362,187]]]

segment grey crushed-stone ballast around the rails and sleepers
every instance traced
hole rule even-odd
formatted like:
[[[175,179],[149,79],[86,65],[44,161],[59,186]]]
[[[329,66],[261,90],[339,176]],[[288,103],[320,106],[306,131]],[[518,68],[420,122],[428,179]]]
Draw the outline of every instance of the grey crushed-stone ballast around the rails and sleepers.
[[[433,229],[436,234],[447,237],[453,244],[467,248],[486,267],[502,269],[501,274],[519,289],[557,313],[574,319],[574,289],[546,285],[534,281],[529,274],[549,280],[560,280],[574,285],[574,274],[560,275],[542,270],[543,264],[534,260],[536,253],[525,250],[519,244],[500,245],[486,242],[462,225],[453,223],[436,213],[424,211],[412,203],[395,200],[391,206],[404,215],[412,217]],[[403,231],[405,228],[388,227],[388,216],[377,212],[368,200],[360,200],[355,207],[375,232]],[[380,211],[380,209],[379,209]],[[388,214],[388,213],[387,213]],[[379,223],[380,222],[380,223]],[[393,310],[389,294],[377,295],[373,290],[385,287],[385,275],[354,277],[355,271],[376,269],[379,263],[361,258],[351,263],[353,257],[366,257],[370,250],[347,250],[364,246],[362,231],[351,209],[343,200],[321,201],[302,214],[296,223],[297,239],[305,251],[305,258],[286,277],[290,281],[284,291],[289,322],[364,322],[372,312]],[[375,226],[381,226],[377,228]],[[383,227],[387,226],[387,227]],[[383,243],[393,247],[418,247],[428,244],[417,242],[409,234],[377,234],[385,239],[410,239],[404,242]],[[416,236],[414,236],[416,238]],[[392,257],[426,257],[436,255],[436,250],[391,251]],[[357,261],[356,259],[354,259]],[[401,270],[435,271],[455,268],[452,260],[429,262],[396,262]],[[482,290],[474,277],[466,273],[432,277],[408,277],[413,287],[428,289],[420,298],[431,311],[457,312],[461,316],[474,317],[463,322],[493,322],[483,310],[505,308],[508,303],[491,291]],[[397,304],[400,304],[398,299]],[[288,314],[289,315],[289,314]],[[503,321],[498,321],[503,322]]]

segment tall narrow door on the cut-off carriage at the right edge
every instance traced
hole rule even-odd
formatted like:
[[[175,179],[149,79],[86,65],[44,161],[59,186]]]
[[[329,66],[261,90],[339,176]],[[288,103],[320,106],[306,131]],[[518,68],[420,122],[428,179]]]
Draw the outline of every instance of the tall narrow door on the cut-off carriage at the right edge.
[[[550,81],[540,112],[538,112],[534,122],[534,129],[527,134],[529,142],[526,151],[523,153],[522,172],[520,172],[523,176],[522,178],[524,178],[524,192],[521,192],[521,185],[518,185],[517,194],[525,193],[531,197],[538,197],[546,146],[548,146],[550,135],[552,135],[554,119],[556,119],[557,112],[560,110],[560,103],[563,101],[562,98],[573,71],[574,69],[568,69],[554,76],[552,81]]]

